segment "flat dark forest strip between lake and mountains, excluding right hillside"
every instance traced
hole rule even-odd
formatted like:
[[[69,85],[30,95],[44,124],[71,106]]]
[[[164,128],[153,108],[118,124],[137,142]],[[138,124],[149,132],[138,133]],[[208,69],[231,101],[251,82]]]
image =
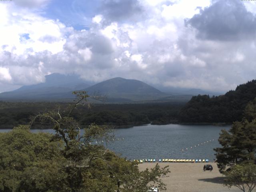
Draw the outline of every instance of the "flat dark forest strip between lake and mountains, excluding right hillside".
[[[31,117],[56,107],[64,110],[67,103],[52,102],[0,102],[0,128],[12,128],[28,124]],[[145,104],[93,104],[88,109],[80,106],[72,116],[83,125],[108,124],[116,128],[141,124],[168,124],[177,122],[179,110],[184,103]],[[38,128],[42,125],[38,124]],[[47,124],[44,125],[47,128]]]

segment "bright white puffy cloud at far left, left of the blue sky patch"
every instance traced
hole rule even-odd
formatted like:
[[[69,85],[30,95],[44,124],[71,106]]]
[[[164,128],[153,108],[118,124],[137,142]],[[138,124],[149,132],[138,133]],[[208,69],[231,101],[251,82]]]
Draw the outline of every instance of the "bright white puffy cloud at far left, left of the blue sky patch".
[[[3,5],[0,4],[0,10]],[[6,7],[7,10],[11,6]],[[2,50],[12,52],[13,54],[23,55],[30,49],[31,54],[48,50],[53,54],[63,50],[65,40],[63,38],[64,30],[68,30],[62,23],[54,20],[48,20],[34,14],[15,14],[11,12],[0,12],[0,18],[12,20],[7,24],[1,25],[0,42]],[[28,39],[22,38],[22,35],[28,34]],[[48,37],[48,39],[47,39]],[[49,37],[52,42],[49,42]]]

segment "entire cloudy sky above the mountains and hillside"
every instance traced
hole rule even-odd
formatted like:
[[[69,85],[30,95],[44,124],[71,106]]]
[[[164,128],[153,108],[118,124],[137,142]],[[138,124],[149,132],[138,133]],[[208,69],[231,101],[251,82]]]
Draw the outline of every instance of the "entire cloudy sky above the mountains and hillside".
[[[0,92],[54,72],[235,89],[256,78],[256,1],[0,1]]]

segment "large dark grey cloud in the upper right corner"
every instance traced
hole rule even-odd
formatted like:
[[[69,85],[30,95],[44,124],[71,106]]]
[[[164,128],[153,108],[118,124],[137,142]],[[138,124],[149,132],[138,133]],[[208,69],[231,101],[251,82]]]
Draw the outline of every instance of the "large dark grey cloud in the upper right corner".
[[[256,18],[238,0],[220,0],[194,15],[185,24],[198,30],[197,38],[242,40],[254,38]]]

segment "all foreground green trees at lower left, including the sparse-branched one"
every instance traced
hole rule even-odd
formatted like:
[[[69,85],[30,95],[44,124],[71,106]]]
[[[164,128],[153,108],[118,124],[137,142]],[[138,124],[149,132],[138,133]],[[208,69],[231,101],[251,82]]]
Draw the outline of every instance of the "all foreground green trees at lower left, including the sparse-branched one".
[[[78,100],[67,110],[33,118],[30,126],[52,124],[55,135],[35,134],[28,126],[0,134],[0,192],[147,192],[151,183],[164,189],[160,177],[170,172],[167,167],[140,172],[136,163],[100,142],[112,138],[108,127],[82,127],[76,121],[72,112],[88,105],[89,97],[86,92],[76,94]],[[98,144],[91,144],[95,140]]]

